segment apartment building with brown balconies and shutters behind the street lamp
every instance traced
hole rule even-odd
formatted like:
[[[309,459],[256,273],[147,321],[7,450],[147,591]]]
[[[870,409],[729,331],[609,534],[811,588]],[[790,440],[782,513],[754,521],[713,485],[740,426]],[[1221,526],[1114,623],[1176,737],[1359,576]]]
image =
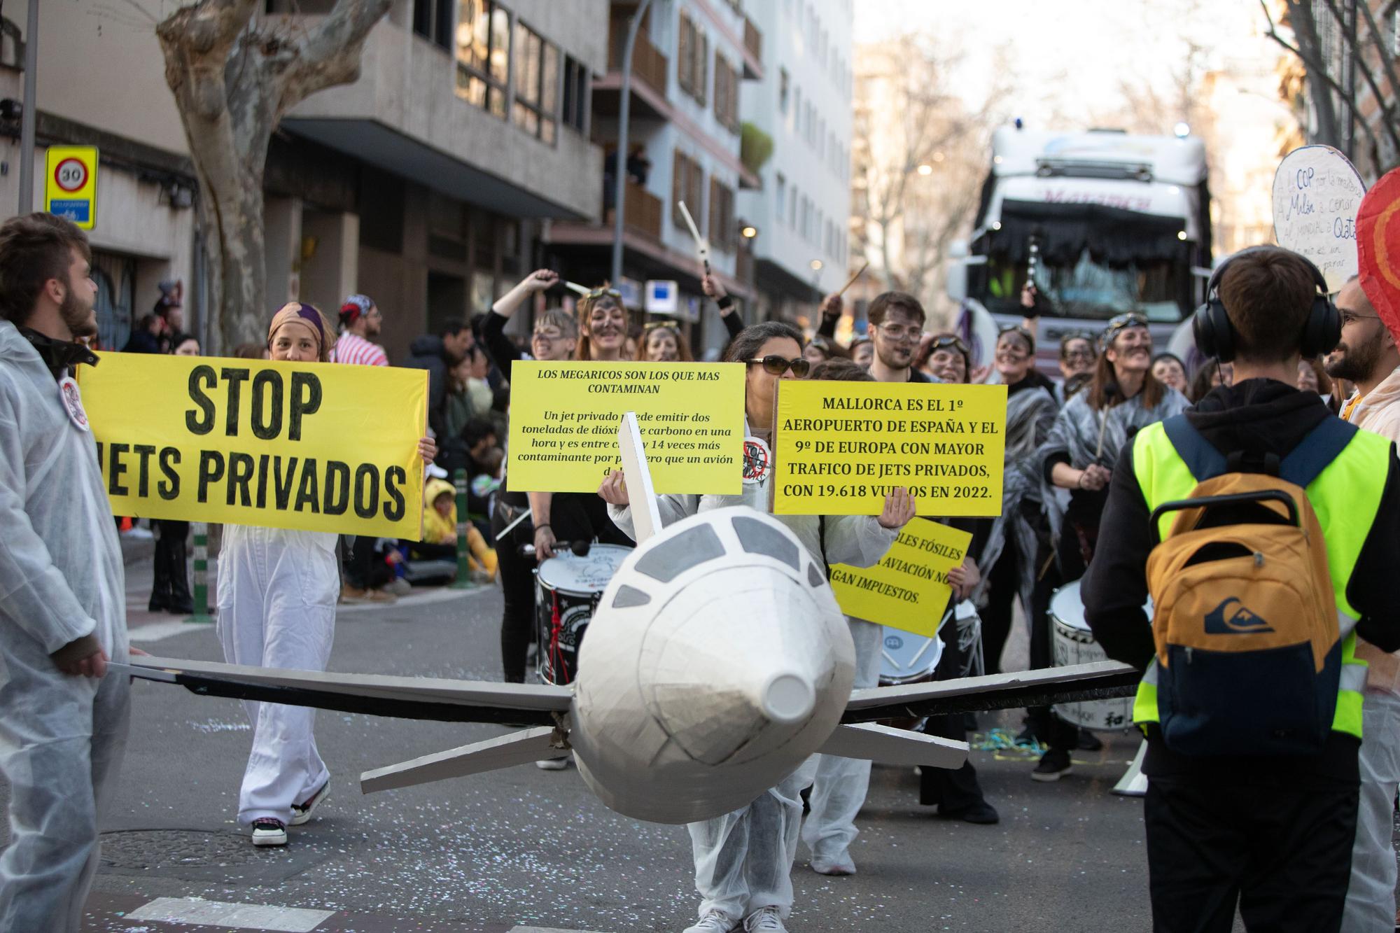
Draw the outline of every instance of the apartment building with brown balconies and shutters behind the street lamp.
[[[542,240],[563,275],[601,284],[610,272],[610,195],[623,185],[623,282],[615,284],[641,317],[643,284],[676,282],[673,317],[689,324],[697,356],[714,354],[724,328],[701,296],[701,263],[678,203],[710,241],[711,270],[731,293],[748,297],[738,199],[762,182],[741,158],[741,101],[764,76],[763,39],[739,0],[652,3],[633,52],[629,146],[617,156],[623,48],[637,8],[634,0],[610,4],[608,69],[592,88],[594,140],[605,151],[594,181],[601,221],[552,221]]]

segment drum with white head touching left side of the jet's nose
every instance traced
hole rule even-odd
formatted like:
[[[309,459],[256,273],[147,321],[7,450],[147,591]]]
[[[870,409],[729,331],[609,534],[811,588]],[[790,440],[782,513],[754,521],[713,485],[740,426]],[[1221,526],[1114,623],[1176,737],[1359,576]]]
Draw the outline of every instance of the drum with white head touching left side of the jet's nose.
[[[631,548],[595,544],[587,558],[557,552],[535,572],[539,678],[570,684],[578,674],[578,646],[608,581]]]

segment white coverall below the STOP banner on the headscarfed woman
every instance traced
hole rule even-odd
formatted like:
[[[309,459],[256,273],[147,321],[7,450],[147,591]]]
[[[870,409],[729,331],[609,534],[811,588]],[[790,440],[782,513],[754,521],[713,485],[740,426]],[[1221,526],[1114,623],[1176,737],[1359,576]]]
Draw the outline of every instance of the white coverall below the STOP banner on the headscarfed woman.
[[[340,570],[336,535],[224,525],[218,555],[218,640],[224,660],[253,667],[323,671],[335,636]],[[238,794],[238,822],[291,822],[330,772],[311,734],[316,710],[244,702],[253,726]]]

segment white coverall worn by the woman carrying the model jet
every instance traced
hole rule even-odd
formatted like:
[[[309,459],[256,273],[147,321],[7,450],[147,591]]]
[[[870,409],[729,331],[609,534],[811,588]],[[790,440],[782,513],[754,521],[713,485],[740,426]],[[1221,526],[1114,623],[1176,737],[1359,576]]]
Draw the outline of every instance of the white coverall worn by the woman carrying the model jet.
[[[746,429],[748,434],[749,431]],[[749,506],[767,511],[769,482],[745,485],[738,496],[659,496],[662,527],[689,516]],[[608,506],[608,514],[626,534],[636,538],[631,509]],[[869,567],[885,558],[899,531],[882,528],[871,516],[776,516],[798,537],[818,563],[848,563]],[[777,906],[787,919],[792,909],[792,860],[797,857],[802,825],[802,789],[812,783],[818,756],[809,758],[792,775],[741,807],[714,820],[686,824],[696,863],[696,890],[703,918],[722,911],[734,920],[766,906]],[[868,763],[868,762],[867,762]],[[868,773],[868,772],[867,772]],[[864,799],[864,794],[862,794]]]

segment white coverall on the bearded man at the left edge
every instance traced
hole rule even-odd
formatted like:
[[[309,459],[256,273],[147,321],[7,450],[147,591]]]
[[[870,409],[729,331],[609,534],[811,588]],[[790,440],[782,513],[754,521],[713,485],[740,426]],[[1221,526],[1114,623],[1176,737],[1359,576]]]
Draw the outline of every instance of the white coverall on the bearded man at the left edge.
[[[92,434],[8,321],[0,528],[0,772],[10,782],[0,930],[76,933],[126,748],[130,678],[71,677],[50,654],[95,636],[108,658],[127,661],[126,579]]]

